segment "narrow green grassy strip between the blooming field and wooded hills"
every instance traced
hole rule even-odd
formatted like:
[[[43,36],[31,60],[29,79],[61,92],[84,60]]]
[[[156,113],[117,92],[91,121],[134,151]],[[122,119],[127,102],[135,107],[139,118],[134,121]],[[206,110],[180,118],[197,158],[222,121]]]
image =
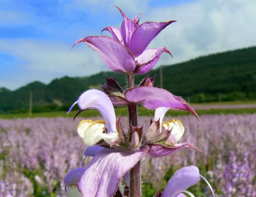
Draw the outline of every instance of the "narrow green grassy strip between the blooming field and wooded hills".
[[[256,113],[256,102],[255,101],[231,101],[231,102],[210,102],[201,104],[191,104],[196,110],[198,115],[203,114],[253,114]],[[51,112],[39,112],[29,115],[28,113],[19,114],[0,114],[0,119],[14,119],[14,118],[36,118],[36,117],[74,117],[76,110],[72,110],[69,114],[67,111],[51,111]],[[122,116],[127,115],[127,107],[115,107],[115,114],[121,114]],[[154,110],[148,110],[142,106],[138,106],[139,116],[153,116]],[[169,110],[166,115],[180,116],[190,115],[189,112],[181,110]],[[81,117],[95,117],[100,116],[97,110],[87,110],[86,113],[82,113]]]

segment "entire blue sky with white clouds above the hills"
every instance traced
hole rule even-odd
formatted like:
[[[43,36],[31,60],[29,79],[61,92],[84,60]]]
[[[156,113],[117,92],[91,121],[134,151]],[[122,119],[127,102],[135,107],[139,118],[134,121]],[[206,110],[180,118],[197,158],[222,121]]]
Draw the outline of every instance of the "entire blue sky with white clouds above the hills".
[[[256,45],[255,0],[1,0],[0,87],[108,70],[88,46],[71,47],[108,25],[120,27],[122,16],[113,5],[131,18],[143,13],[141,22],[178,21],[149,46],[167,46],[173,54],[163,54],[156,67]]]

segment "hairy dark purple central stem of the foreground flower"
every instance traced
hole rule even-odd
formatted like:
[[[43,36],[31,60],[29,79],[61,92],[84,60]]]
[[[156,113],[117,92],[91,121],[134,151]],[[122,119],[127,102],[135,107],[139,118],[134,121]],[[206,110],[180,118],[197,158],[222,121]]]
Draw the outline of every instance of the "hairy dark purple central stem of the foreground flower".
[[[127,75],[127,87],[134,87],[134,75]],[[136,127],[137,121],[137,105],[128,105],[129,123]],[[130,197],[141,197],[141,172],[140,161],[130,170]]]

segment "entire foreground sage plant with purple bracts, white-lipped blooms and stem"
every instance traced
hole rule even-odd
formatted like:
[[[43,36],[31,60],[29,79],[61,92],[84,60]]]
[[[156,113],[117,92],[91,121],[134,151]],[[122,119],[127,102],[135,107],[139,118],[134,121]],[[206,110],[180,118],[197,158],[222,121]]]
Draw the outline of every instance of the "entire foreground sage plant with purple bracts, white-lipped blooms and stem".
[[[104,120],[82,120],[77,127],[79,136],[89,146],[84,154],[93,159],[86,168],[73,169],[64,178],[67,196],[141,196],[142,156],[163,157],[183,147],[199,151],[190,142],[178,143],[184,134],[184,125],[180,120],[163,121],[169,109],[186,110],[198,118],[188,103],[181,97],[154,87],[154,78],[149,76],[134,86],[135,74],[151,70],[163,52],[171,54],[166,47],[146,48],[161,30],[175,21],[139,24],[139,15],[130,19],[121,9],[119,11],[123,16],[121,27],[103,29],[109,31],[113,38],[88,36],[75,43],[87,44],[110,69],[127,75],[127,87],[122,88],[115,78],[107,77],[102,86],[104,92],[87,90],[70,107],[68,113],[76,104],[80,108],[75,118],[85,110],[97,109]],[[114,111],[114,106],[124,105],[128,107],[128,129],[123,128],[121,117],[116,119]],[[155,109],[149,128],[138,127],[137,105]],[[181,192],[193,196],[185,189],[198,182],[200,176],[195,166],[183,168],[170,179],[163,193],[159,191],[156,196],[183,196]],[[126,178],[126,186],[121,192],[123,177]]]

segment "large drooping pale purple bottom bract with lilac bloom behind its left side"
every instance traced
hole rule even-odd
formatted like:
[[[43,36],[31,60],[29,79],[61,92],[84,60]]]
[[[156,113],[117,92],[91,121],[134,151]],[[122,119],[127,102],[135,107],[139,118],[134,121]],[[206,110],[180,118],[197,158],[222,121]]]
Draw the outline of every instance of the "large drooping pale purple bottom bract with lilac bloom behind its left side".
[[[120,179],[141,159],[147,149],[143,147],[135,152],[100,150],[87,168],[76,168],[64,178],[67,196],[73,197],[77,191],[80,196],[113,196]]]

